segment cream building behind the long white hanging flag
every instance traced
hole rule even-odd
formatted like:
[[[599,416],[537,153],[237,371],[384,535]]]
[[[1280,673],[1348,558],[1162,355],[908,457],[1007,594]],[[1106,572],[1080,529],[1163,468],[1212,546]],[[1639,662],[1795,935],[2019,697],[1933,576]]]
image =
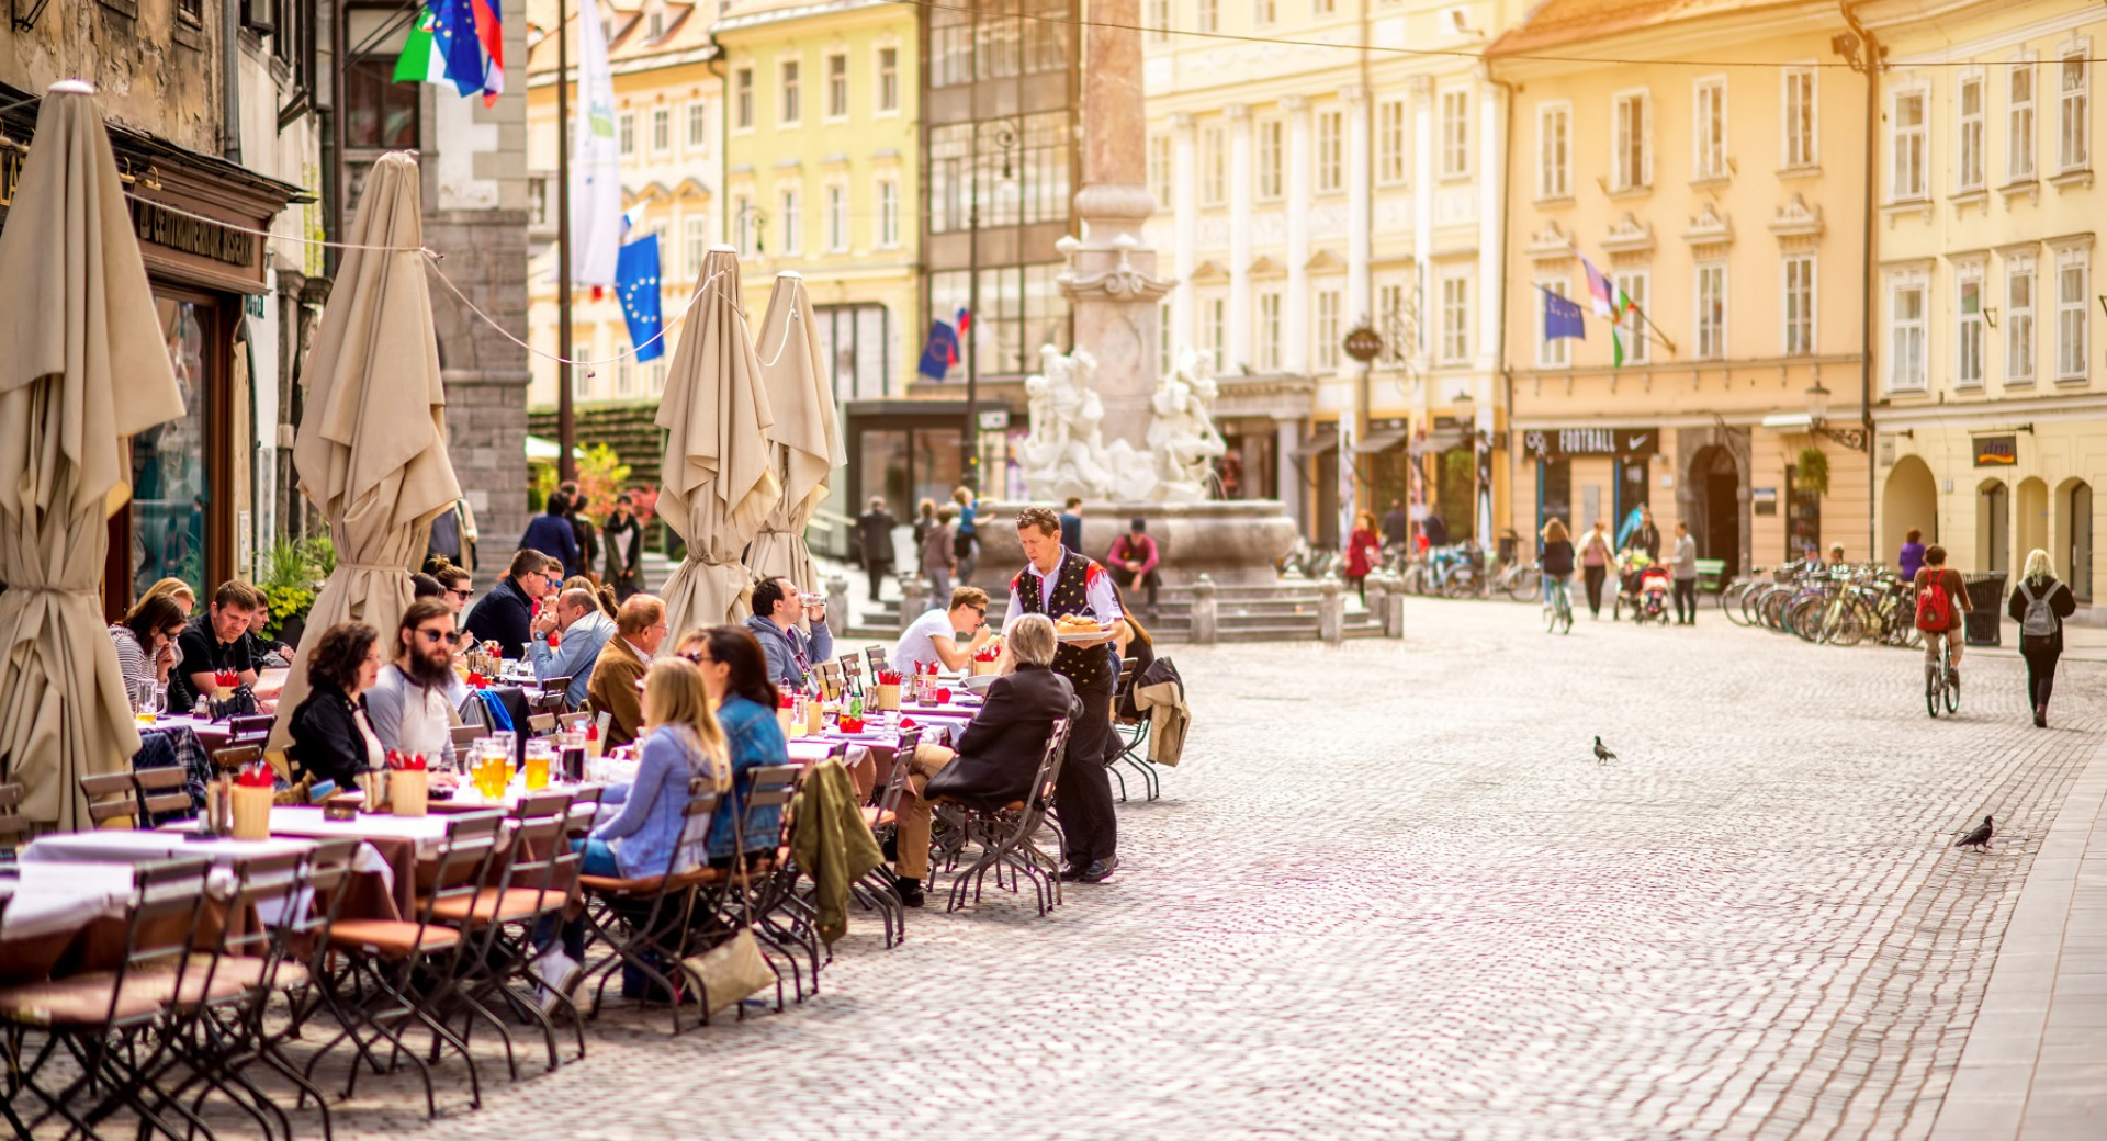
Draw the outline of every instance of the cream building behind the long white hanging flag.
[[[569,101],[577,116],[577,19],[569,13]],[[666,0],[600,0],[607,29],[607,61],[615,82],[615,139],[622,147],[622,204],[630,215],[628,240],[645,232],[659,236],[659,307],[666,320],[687,305],[695,291],[702,255],[725,236],[723,206],[723,82],[710,42],[714,4]],[[531,168],[533,261],[529,276],[529,341],[539,354],[556,354],[556,4],[535,0],[529,48],[527,162]],[[575,126],[573,126],[575,128]],[[573,295],[573,358],[609,360],[630,347],[628,324],[615,291],[598,299],[590,288]],[[678,328],[666,335],[666,356],[634,364],[628,358],[577,368],[573,398],[653,400],[666,389],[666,366],[678,345]],[[529,404],[556,402],[558,364],[533,358]]]

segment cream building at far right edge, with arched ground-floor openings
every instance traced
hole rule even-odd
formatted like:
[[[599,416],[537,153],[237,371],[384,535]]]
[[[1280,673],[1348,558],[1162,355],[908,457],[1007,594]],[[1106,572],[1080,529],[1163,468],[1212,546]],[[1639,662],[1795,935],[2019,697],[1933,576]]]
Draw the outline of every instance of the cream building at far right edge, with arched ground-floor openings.
[[[2010,575],[2044,547],[2092,602],[2107,200],[2088,59],[2107,13],[1978,0],[1930,21],[1882,2],[1860,19],[1888,51],[1871,282],[1882,545],[1919,528],[1953,566]]]

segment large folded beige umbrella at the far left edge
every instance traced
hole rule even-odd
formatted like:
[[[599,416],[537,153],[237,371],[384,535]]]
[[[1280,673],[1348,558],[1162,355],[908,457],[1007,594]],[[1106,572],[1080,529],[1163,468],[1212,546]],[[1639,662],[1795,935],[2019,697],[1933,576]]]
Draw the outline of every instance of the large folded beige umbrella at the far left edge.
[[[183,415],[95,88],[61,82],[0,234],[0,781],[86,827],[78,779],[131,768],[139,726],[103,632],[126,436]]]

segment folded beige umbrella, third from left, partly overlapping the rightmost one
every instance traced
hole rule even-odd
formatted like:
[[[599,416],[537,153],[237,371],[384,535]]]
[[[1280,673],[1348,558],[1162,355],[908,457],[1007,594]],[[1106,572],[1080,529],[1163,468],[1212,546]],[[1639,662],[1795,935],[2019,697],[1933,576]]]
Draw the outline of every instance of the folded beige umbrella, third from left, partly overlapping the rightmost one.
[[[767,451],[775,417],[740,312],[737,251],[712,246],[695,288],[708,297],[687,314],[657,415],[666,429],[657,512],[687,541],[687,558],[666,579],[666,623],[674,636],[691,625],[740,621],[740,598],[750,583],[740,552],[782,497]]]

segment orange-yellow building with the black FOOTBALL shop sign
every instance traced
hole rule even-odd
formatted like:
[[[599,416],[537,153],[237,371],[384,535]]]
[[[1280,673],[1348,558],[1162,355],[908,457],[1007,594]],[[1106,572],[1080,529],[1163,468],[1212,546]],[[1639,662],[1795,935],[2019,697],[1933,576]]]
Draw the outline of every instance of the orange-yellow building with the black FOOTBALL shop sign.
[[[1650,507],[1728,573],[1835,543],[1879,556],[1860,400],[1865,78],[1818,67],[1842,32],[1835,4],[1551,0],[1490,48],[1513,103],[1519,535]],[[1587,339],[1544,337],[1547,291],[1589,312],[1582,259],[1635,303],[1620,366],[1593,314]]]

